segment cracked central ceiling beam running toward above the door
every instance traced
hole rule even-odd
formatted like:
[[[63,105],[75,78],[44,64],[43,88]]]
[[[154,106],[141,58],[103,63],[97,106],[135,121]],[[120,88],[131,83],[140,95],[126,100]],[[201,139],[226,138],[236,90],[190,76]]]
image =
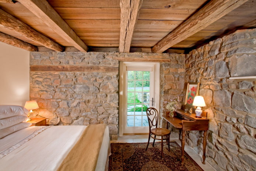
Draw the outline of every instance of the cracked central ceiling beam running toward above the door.
[[[119,52],[130,51],[131,39],[143,0],[121,0]]]

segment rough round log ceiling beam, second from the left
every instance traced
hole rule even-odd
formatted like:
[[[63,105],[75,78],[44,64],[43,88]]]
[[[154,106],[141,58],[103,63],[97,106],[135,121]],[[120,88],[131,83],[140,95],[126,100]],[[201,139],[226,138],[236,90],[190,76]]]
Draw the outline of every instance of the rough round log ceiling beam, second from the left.
[[[5,28],[10,29],[11,31],[17,32],[20,35],[33,40],[36,43],[42,44],[49,49],[56,50],[56,51],[64,51],[65,48],[56,42],[53,42],[46,36],[42,35],[41,33],[35,31],[30,26],[24,24],[17,18],[13,17],[12,15],[6,13],[4,10],[0,9],[0,25],[4,26]]]

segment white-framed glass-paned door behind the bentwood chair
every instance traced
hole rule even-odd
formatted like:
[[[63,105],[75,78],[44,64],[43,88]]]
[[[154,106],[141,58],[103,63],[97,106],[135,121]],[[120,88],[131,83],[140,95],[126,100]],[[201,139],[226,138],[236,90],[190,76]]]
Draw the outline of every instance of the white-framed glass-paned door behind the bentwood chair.
[[[123,133],[147,133],[146,109],[158,109],[157,63],[123,63]],[[159,75],[158,75],[159,78]],[[121,80],[121,79],[120,79]]]

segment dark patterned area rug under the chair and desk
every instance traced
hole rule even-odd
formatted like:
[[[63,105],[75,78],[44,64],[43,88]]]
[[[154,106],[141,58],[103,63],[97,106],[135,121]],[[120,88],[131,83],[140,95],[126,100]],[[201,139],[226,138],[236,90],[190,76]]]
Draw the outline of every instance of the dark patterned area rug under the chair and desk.
[[[176,142],[164,143],[164,159],[161,157],[161,143],[112,143],[109,157],[109,171],[203,171],[185,152],[184,165],[180,164],[181,147]]]

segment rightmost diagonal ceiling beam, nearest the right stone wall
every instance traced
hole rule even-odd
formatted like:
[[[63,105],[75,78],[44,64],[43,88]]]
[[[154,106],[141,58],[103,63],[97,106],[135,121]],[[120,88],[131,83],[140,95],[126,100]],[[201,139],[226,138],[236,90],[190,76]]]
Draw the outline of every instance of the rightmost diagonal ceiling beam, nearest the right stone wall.
[[[189,36],[192,36],[194,33],[206,28],[208,25],[241,6],[246,1],[248,0],[211,0],[196,14],[192,15],[178,28],[155,44],[155,46],[152,47],[152,52],[162,53],[169,47],[172,47]]]

